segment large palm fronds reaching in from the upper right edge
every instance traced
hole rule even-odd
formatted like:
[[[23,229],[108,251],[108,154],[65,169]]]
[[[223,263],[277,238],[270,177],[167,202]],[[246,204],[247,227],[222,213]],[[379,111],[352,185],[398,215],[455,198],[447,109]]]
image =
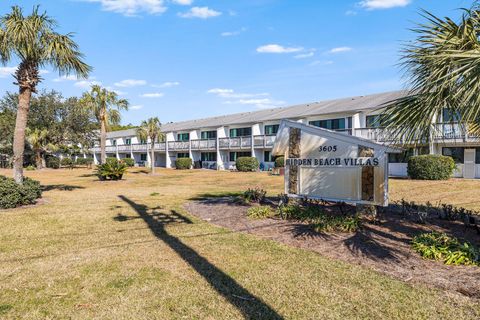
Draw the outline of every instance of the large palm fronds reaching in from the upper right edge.
[[[382,124],[404,142],[430,141],[443,111],[479,131],[480,119],[480,4],[463,9],[459,22],[422,11],[426,23],[413,31],[403,48],[401,65],[408,94],[386,105]]]

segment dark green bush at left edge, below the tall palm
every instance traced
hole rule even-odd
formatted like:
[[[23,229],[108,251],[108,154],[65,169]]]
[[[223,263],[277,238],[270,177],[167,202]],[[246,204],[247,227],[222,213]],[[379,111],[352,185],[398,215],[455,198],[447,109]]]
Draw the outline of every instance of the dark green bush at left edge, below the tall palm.
[[[0,176],[0,208],[8,209],[33,204],[42,196],[40,182],[25,178],[23,185],[15,180]]]

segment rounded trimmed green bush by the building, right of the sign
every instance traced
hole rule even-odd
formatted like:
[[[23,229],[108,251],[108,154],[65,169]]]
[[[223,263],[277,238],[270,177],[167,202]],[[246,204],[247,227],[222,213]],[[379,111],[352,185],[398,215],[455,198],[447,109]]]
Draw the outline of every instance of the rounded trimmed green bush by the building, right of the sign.
[[[447,180],[454,170],[451,157],[436,154],[410,157],[407,167],[408,176],[418,180]]]

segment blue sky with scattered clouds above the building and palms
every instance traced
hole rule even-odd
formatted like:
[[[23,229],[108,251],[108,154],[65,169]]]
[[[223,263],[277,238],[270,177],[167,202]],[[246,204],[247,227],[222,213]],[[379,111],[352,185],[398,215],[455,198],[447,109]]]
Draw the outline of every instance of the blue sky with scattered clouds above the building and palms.
[[[101,83],[130,101],[122,123],[181,121],[403,87],[396,66],[418,11],[458,17],[467,0],[55,0],[57,19],[94,70],[88,80],[43,71],[40,88],[81,95]],[[16,62],[0,90],[16,91]]]

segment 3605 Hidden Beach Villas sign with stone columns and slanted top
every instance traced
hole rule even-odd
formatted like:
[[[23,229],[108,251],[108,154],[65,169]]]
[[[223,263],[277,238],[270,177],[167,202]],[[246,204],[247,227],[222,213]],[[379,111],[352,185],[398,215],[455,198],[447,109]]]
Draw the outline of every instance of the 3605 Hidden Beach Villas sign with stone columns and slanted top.
[[[285,193],[326,201],[388,205],[388,153],[372,141],[284,120],[273,154],[285,156]]]

